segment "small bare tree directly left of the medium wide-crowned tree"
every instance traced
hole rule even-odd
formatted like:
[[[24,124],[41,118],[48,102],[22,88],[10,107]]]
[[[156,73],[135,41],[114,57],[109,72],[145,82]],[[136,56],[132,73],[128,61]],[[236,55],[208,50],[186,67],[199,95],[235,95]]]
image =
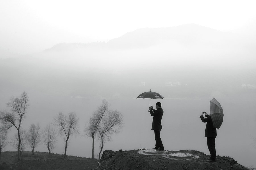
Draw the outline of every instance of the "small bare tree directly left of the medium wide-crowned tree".
[[[57,142],[57,132],[50,125],[47,125],[43,130],[43,141],[46,145],[49,154],[55,148],[55,143]]]

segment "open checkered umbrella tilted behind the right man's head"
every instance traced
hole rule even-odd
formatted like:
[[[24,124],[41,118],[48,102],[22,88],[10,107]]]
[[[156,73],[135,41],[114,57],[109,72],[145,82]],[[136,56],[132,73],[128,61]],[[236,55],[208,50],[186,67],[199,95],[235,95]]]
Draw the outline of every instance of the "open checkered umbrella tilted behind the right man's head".
[[[220,103],[215,98],[210,101],[210,116],[212,118],[214,128],[219,129],[223,122],[224,114]]]

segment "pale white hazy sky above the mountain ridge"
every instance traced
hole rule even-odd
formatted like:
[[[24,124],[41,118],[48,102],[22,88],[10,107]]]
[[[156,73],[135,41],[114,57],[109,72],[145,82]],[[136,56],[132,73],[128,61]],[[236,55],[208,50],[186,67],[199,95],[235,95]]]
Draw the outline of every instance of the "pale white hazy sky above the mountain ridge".
[[[0,0],[0,50],[29,54],[189,23],[234,31],[255,19],[255,6],[254,0]]]

